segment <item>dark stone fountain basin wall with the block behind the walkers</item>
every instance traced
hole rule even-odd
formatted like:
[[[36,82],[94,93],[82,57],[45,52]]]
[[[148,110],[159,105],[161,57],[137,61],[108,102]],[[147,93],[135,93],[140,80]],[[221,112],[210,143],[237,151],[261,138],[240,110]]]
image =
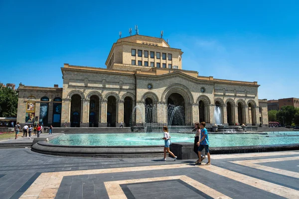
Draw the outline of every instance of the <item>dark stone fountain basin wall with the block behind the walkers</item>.
[[[170,145],[170,151],[178,157],[178,160],[196,159],[197,156],[193,152],[193,146],[193,143],[190,142],[172,143]],[[43,154],[73,157],[141,158],[163,156],[163,146],[69,146],[55,145],[47,143],[46,141],[39,141],[31,147],[31,150]],[[287,150],[299,150],[299,144],[211,147],[210,154]]]

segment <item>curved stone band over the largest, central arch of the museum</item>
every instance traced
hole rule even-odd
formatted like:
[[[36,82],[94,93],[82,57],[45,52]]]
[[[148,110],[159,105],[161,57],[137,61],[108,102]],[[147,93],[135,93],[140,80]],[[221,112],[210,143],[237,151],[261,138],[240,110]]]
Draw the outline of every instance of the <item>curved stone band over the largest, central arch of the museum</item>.
[[[193,103],[193,96],[188,87],[181,84],[169,85],[162,93],[161,102],[166,102],[167,98],[173,93],[180,94],[185,99],[185,102]]]

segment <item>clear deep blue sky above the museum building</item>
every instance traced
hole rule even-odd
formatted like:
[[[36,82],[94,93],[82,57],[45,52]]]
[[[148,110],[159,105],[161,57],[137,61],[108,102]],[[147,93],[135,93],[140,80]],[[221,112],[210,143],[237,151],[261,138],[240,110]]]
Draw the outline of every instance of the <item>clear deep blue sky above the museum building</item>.
[[[299,98],[296,0],[0,0],[0,82],[62,86],[63,63],[106,67],[112,44],[142,35],[181,48],[183,69],[257,81],[259,99]]]

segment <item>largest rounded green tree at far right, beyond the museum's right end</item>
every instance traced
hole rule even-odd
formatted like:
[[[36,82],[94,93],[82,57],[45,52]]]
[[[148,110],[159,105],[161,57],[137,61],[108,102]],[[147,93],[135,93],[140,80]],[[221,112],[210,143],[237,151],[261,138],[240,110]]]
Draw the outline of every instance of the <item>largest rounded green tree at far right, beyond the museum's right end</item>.
[[[280,111],[277,111],[277,119],[281,124],[292,125],[297,108],[294,106],[283,106]]]

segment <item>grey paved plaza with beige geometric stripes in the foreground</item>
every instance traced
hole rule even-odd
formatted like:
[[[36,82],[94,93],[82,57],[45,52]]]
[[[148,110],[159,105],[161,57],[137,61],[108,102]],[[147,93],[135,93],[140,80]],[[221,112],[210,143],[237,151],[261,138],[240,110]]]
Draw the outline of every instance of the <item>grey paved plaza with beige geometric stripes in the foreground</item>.
[[[299,198],[299,151],[211,157],[212,165],[198,166],[172,158],[72,158],[0,149],[0,198]]]

